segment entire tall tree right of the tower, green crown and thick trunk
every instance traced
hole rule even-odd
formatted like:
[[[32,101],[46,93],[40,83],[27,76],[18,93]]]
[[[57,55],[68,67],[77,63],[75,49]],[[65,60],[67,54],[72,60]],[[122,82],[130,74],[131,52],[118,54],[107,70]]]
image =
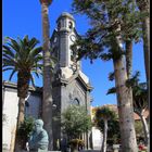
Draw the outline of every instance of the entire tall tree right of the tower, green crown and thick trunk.
[[[91,27],[72,49],[77,50],[78,59],[113,60],[122,148],[124,152],[136,152],[131,89],[125,84],[128,78],[126,75],[130,73],[130,68],[126,71],[125,60],[128,67],[131,66],[129,63],[131,60],[125,59],[127,50],[124,46],[126,45],[126,49],[129,48],[130,51],[131,48],[127,46],[127,42],[138,41],[140,38],[141,14],[135,2],[130,0],[74,0],[73,8],[75,12],[87,15]],[[131,53],[128,56],[130,58]]]

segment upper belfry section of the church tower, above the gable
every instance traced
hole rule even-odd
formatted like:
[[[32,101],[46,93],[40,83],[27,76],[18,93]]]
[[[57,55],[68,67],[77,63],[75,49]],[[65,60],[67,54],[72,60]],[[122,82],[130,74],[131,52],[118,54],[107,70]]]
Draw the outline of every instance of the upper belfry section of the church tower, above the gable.
[[[74,17],[69,13],[63,12],[56,21],[56,29],[51,38],[51,48],[54,50],[53,53],[58,54],[55,71],[60,69],[66,78],[80,68],[80,61],[77,63],[74,61],[74,53],[71,49],[77,37]]]

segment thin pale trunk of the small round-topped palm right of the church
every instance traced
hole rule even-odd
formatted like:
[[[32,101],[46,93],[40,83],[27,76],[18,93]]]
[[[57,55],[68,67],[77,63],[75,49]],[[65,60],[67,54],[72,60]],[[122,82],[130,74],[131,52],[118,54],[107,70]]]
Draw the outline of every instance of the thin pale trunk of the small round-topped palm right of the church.
[[[107,139],[107,119],[104,119],[104,132],[101,152],[106,152],[106,139]]]

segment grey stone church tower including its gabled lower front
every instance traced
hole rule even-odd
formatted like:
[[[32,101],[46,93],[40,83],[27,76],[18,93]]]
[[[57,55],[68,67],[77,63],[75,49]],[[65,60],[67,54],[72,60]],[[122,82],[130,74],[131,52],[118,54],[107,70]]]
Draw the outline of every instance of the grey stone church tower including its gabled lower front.
[[[63,12],[56,20],[56,28],[50,39],[51,55],[56,58],[58,62],[52,78],[52,98],[53,104],[56,105],[53,116],[58,116],[72,104],[85,105],[90,113],[90,91],[92,87],[89,84],[89,78],[81,72],[80,61],[75,62],[75,53],[71,46],[78,38],[75,28],[74,17]],[[87,135],[88,137],[88,135]],[[89,145],[89,139],[86,140],[86,145]],[[64,138],[61,129],[61,121],[53,122],[53,144],[56,147],[56,141]]]

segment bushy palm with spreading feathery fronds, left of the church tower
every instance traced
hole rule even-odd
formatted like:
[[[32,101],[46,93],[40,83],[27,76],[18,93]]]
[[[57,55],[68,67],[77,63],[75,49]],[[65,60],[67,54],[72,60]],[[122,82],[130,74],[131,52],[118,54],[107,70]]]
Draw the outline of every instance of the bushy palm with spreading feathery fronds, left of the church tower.
[[[2,68],[3,72],[12,71],[9,80],[17,73],[17,97],[18,97],[18,115],[17,128],[24,122],[25,98],[28,93],[29,83],[35,86],[33,74],[39,77],[42,67],[42,48],[36,47],[39,41],[36,38],[14,40],[7,37],[5,45],[2,46]],[[17,142],[16,142],[17,143]]]

